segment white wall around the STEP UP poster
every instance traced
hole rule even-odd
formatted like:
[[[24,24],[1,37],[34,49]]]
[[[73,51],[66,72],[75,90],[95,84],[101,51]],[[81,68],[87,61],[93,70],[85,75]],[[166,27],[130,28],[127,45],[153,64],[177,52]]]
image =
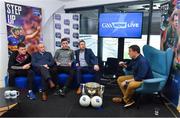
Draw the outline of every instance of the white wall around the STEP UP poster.
[[[48,51],[54,53],[54,36],[52,15],[55,12],[64,12],[63,2],[59,0],[0,0],[0,87],[4,84],[8,65],[8,41],[6,30],[6,16],[4,2],[42,8],[42,32],[44,44]]]

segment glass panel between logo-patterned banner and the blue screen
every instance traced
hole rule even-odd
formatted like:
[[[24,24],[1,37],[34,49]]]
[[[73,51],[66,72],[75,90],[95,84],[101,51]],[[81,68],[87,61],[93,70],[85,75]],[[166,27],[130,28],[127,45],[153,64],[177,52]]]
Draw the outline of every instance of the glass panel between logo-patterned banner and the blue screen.
[[[91,48],[97,56],[98,46],[98,9],[70,11],[80,14],[80,35],[79,39],[86,42],[86,47]]]

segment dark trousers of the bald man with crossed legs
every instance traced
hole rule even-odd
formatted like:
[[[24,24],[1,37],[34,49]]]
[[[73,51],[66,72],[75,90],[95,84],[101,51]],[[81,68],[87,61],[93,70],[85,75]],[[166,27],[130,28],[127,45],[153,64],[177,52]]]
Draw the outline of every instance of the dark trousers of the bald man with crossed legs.
[[[36,67],[34,68],[34,71],[41,75],[42,77],[42,86],[43,86],[43,91],[47,91],[48,89],[48,80],[51,79],[51,68],[47,69],[44,66]]]

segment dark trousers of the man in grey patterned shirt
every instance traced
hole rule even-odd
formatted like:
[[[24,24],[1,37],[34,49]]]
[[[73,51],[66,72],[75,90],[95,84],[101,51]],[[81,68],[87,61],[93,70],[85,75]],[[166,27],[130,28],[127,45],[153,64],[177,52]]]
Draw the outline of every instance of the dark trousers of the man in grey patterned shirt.
[[[68,67],[68,66],[54,66],[51,71],[52,71],[53,80],[54,80],[54,82],[56,84],[58,83],[57,82],[58,81],[57,75],[59,73],[67,73],[67,74],[69,74],[69,78],[66,81],[64,86],[65,87],[70,87],[70,85],[73,82],[73,75],[74,75],[74,70],[71,67]]]

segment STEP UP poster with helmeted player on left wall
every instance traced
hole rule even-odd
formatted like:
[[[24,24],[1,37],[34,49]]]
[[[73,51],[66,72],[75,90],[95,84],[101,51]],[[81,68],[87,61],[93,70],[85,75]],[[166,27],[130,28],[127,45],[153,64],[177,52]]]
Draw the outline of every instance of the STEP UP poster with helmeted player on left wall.
[[[43,40],[41,8],[5,2],[5,13],[9,55],[20,42],[26,44],[30,54],[36,51],[36,45]]]

